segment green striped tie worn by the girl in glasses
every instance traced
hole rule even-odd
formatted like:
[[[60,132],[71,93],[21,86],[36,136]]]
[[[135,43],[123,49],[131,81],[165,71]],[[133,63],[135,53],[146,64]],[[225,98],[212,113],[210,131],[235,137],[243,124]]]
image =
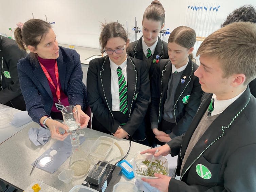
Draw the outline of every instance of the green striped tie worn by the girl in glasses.
[[[125,76],[122,73],[121,67],[117,68],[117,75],[118,75],[118,85],[119,85],[120,112],[125,114],[128,111],[127,85],[126,85]]]

